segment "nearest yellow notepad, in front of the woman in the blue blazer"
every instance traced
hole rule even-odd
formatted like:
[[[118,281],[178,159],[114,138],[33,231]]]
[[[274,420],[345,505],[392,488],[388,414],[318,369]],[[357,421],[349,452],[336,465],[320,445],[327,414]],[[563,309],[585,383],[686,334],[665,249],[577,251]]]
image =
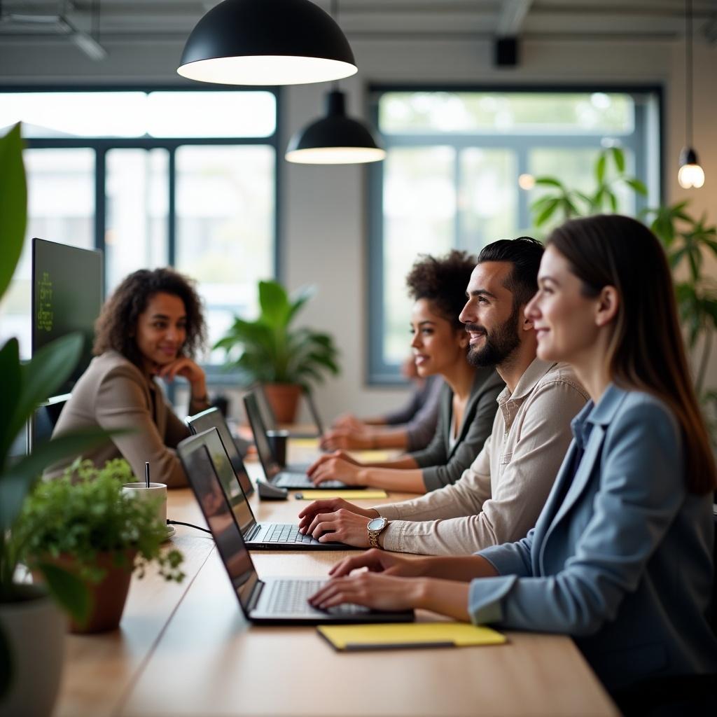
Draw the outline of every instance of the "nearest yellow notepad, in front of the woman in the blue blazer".
[[[402,647],[502,645],[505,635],[467,622],[398,622],[386,625],[320,625],[336,650],[392,650]]]

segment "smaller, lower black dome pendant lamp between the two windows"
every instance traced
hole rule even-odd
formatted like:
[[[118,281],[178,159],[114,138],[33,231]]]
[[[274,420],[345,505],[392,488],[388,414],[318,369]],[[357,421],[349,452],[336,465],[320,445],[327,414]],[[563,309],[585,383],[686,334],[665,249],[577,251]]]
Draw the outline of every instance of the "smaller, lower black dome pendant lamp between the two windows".
[[[298,164],[358,164],[385,156],[374,133],[346,115],[346,95],[336,89],[326,95],[326,117],[297,132],[285,155]]]

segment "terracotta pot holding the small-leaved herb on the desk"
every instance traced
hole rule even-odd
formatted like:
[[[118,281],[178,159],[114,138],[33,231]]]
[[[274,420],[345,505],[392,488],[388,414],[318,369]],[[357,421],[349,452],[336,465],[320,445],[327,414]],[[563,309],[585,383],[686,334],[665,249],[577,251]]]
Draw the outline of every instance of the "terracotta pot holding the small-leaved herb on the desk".
[[[98,583],[85,583],[90,592],[90,617],[85,625],[79,625],[75,620],[70,619],[70,632],[79,634],[108,632],[119,627],[136,554],[136,550],[125,551],[125,564],[122,566],[114,564],[113,553],[98,555],[97,566],[105,571],[105,576]],[[76,569],[75,559],[69,555],[62,555],[53,559],[53,562],[68,572],[74,572]]]

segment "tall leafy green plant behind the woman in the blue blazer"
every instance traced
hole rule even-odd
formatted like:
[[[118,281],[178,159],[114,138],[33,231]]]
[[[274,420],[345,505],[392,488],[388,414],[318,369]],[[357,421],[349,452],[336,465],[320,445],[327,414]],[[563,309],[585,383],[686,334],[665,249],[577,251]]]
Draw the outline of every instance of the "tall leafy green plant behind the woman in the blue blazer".
[[[625,155],[620,148],[602,151],[594,166],[594,189],[579,191],[566,186],[556,177],[536,177],[536,186],[546,194],[531,204],[536,227],[554,226],[572,217],[619,212],[618,189],[630,187],[647,195],[641,181],[627,176]],[[695,219],[688,212],[688,201],[646,209],[640,219],[662,242],[675,277],[675,294],[685,338],[690,353],[703,339],[701,356],[695,371],[695,388],[703,400],[717,399],[717,392],[704,392],[704,382],[717,328],[717,283],[703,275],[704,257],[717,257],[717,227],[708,224],[706,214]]]

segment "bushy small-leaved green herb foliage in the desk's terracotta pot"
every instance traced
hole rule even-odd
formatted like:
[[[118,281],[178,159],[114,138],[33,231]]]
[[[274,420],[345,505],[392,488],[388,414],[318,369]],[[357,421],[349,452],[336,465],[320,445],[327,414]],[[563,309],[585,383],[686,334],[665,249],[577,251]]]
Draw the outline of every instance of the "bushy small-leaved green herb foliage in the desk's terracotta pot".
[[[99,554],[112,554],[122,566],[128,551],[136,550],[139,577],[156,562],[164,579],[181,582],[184,556],[176,549],[162,551],[166,526],[157,519],[156,504],[122,492],[122,484],[133,480],[128,462],[118,458],[100,469],[89,460],[75,461],[62,478],[39,483],[18,521],[23,559],[36,566],[71,556],[80,579],[99,582],[104,576]]]

